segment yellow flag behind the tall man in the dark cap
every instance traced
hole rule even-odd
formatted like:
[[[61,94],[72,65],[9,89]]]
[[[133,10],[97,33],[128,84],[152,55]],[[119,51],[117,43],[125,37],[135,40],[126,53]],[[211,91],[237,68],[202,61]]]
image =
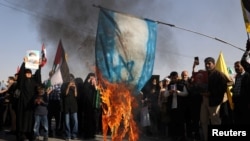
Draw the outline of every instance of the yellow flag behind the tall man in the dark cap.
[[[217,70],[221,71],[222,73],[224,73],[230,79],[230,76],[229,76],[229,73],[227,70],[227,65],[225,63],[224,56],[223,56],[222,52],[220,52],[220,55],[217,59],[215,68]],[[230,91],[231,88],[232,88],[232,86],[227,87],[227,98],[228,98],[228,102],[230,104],[230,108],[233,110],[234,104],[233,104],[233,100],[232,100],[232,92]]]

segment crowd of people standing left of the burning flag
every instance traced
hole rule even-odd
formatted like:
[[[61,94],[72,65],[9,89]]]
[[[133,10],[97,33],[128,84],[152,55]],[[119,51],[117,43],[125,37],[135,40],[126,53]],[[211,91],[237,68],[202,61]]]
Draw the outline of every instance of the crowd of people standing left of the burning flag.
[[[69,74],[68,82],[52,84],[53,71],[42,82],[41,66],[32,73],[26,62],[25,57],[15,76],[0,85],[1,131],[9,128],[6,134],[15,135],[16,141],[94,139],[101,133],[101,100],[94,73],[84,81]]]

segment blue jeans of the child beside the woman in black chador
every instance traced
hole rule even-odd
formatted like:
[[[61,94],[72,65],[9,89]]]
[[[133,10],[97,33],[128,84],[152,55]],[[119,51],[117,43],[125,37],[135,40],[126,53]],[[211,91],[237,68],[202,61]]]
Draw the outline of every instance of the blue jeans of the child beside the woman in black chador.
[[[37,137],[40,135],[40,124],[44,127],[44,137],[48,137],[48,118],[47,115],[35,115],[34,123],[34,136]]]

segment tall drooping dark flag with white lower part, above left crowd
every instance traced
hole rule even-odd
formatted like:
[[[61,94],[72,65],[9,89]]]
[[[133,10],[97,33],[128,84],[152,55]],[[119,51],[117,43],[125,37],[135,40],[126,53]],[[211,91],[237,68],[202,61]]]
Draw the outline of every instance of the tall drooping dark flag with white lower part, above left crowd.
[[[52,67],[53,76],[51,77],[51,84],[62,84],[70,80],[69,67],[66,61],[65,51],[62,45],[62,41],[59,41],[54,65]]]

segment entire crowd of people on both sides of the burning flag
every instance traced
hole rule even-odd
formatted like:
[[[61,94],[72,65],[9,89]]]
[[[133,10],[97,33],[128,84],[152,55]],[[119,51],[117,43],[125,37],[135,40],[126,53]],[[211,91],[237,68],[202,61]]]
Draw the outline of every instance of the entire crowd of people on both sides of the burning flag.
[[[235,61],[235,78],[231,79],[216,69],[215,59],[204,60],[204,70],[191,75],[172,71],[160,80],[152,75],[145,84],[138,103],[138,126],[142,134],[173,141],[208,141],[210,125],[250,124],[250,42],[246,52]],[[95,73],[85,80],[70,74],[69,82],[51,84],[54,72],[42,82],[41,67],[33,74],[25,68],[24,59],[15,76],[7,85],[0,85],[0,129],[10,125],[17,141],[36,141],[43,136],[94,139],[102,132],[102,107]],[[227,89],[231,86],[232,103]],[[8,118],[9,117],[9,118]],[[54,119],[54,120],[52,120]],[[53,126],[52,122],[55,121]]]

